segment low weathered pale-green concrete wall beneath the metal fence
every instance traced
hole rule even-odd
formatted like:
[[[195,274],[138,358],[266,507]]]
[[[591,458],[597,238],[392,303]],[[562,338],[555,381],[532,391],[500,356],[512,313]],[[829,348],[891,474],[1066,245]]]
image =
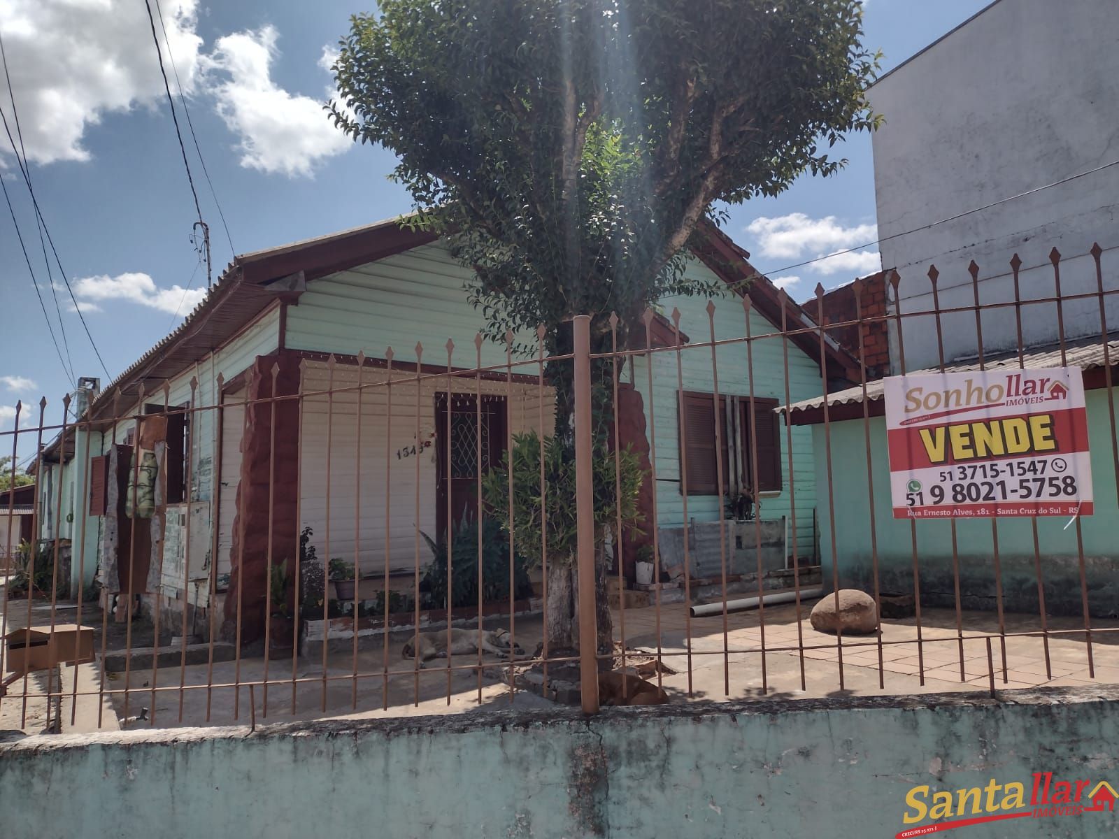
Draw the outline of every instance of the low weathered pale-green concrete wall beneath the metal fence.
[[[1115,785],[1117,703],[1115,688],[1051,688],[36,736],[0,745],[0,824],[59,839],[886,837],[930,823],[903,821],[919,785]],[[1113,836],[1116,818],[967,836]]]

